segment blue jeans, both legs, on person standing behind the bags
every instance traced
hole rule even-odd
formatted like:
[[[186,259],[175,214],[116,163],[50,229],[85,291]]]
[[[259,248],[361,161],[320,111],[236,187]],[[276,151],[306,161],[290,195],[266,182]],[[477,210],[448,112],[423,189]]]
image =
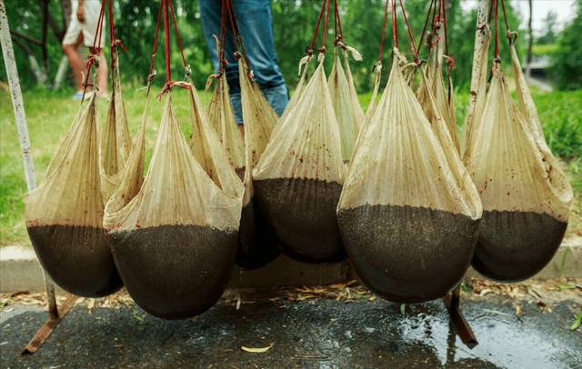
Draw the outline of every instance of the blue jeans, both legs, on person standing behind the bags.
[[[220,17],[222,1],[198,0],[200,17],[210,51],[212,63],[218,71],[218,53],[213,35],[220,38]],[[279,71],[276,60],[273,21],[271,19],[270,0],[233,0],[238,26],[245,43],[246,54],[251,64],[255,81],[259,85],[266,101],[273,106],[277,115],[282,115],[289,103],[289,89]],[[243,124],[240,102],[240,83],[238,80],[238,63],[234,53],[236,46],[230,20],[226,19],[226,80],[230,98],[236,115],[236,123]]]

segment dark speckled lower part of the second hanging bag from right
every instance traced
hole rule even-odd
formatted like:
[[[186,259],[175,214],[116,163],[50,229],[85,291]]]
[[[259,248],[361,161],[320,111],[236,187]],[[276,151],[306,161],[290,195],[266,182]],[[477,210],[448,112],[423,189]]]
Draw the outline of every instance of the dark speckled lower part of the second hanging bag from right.
[[[337,217],[342,229],[350,229],[343,236],[357,275],[390,301],[416,304],[444,296],[461,282],[473,256],[467,244],[475,244],[477,224],[464,214],[363,205],[340,209]]]

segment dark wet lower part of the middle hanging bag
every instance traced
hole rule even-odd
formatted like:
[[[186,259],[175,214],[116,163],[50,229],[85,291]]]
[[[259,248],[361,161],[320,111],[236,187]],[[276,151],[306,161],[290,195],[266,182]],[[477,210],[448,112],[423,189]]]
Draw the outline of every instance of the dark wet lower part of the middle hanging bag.
[[[275,229],[277,244],[287,255],[305,263],[336,263],[346,258],[345,249],[337,247],[342,244],[336,220],[341,184],[273,178],[255,181],[255,188],[258,203]]]

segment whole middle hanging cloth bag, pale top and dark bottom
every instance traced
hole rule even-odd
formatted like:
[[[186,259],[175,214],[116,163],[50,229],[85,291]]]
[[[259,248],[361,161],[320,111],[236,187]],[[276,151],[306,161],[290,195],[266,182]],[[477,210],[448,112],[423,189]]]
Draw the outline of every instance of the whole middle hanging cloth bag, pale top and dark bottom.
[[[336,217],[346,165],[323,61],[320,54],[315,74],[279,121],[253,172],[256,199],[276,243],[309,263],[346,257]]]

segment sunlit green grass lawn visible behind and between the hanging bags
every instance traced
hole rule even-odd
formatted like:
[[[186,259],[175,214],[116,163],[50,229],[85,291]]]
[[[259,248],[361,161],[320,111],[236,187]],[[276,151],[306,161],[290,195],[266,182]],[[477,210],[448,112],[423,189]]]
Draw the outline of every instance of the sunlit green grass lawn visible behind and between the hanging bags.
[[[156,101],[159,88],[154,88],[147,112],[146,163],[152,155],[156,142],[165,98]],[[212,91],[198,91],[206,106]],[[364,108],[371,99],[371,93],[360,95]],[[582,91],[572,93],[542,93],[533,91],[537,110],[544,125],[547,141],[555,154],[560,155],[570,183],[575,188],[577,200],[572,208],[567,236],[582,235]],[[135,92],[125,88],[125,110],[129,131],[135,136],[141,123],[146,101],[146,91]],[[79,103],[70,101],[69,95],[26,92],[25,113],[30,134],[30,142],[35,158],[36,183],[40,184],[46,167],[56,148],[71,125]],[[468,95],[457,95],[457,120],[462,125]],[[190,106],[186,90],[175,88],[173,103],[176,115],[185,135],[190,135]],[[108,103],[99,101],[101,118],[105,125]],[[24,204],[26,193],[25,171],[20,153],[15,116],[8,91],[0,90],[0,245],[29,244],[25,229]]]

